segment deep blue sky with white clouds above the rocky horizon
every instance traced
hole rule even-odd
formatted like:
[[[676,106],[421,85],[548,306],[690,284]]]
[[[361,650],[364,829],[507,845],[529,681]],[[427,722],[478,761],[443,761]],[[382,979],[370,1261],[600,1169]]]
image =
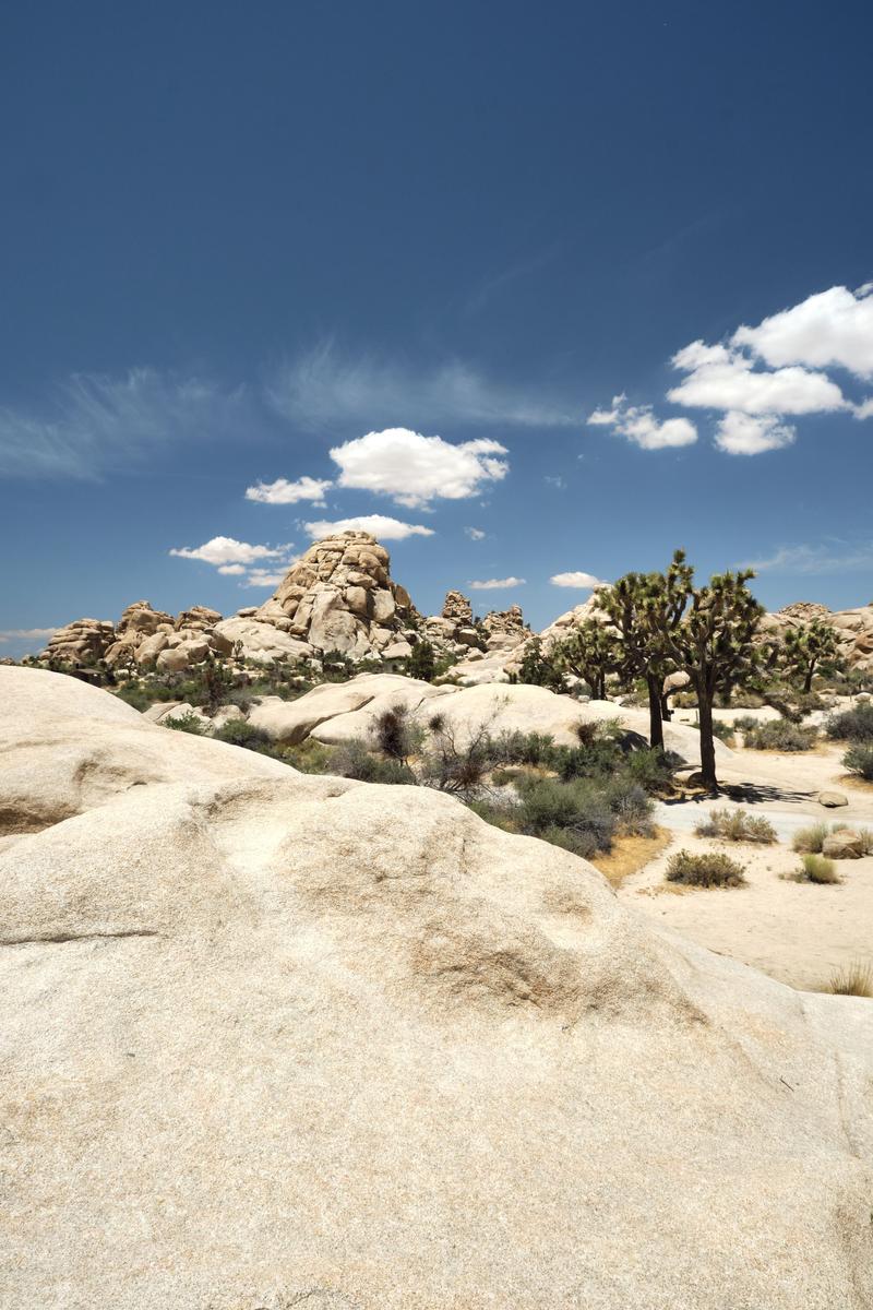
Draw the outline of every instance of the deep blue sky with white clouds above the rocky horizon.
[[[0,630],[232,613],[370,515],[427,612],[517,579],[476,608],[542,626],[677,545],[869,601],[872,39],[851,0],[7,5]]]

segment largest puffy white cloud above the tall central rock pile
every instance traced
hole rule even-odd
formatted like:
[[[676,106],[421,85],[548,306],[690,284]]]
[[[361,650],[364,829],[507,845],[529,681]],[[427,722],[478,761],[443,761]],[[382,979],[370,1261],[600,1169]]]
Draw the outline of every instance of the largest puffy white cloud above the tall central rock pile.
[[[368,432],[330,452],[340,469],[339,486],[387,495],[408,508],[478,495],[484,483],[507,476],[509,465],[499,458],[505,453],[488,438],[453,445],[407,427]]]

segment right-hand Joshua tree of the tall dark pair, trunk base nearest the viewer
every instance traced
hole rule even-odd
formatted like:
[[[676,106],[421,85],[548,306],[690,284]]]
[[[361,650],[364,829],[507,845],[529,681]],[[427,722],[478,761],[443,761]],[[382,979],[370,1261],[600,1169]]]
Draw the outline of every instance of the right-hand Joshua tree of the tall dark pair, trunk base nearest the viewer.
[[[664,650],[685,668],[698,693],[700,715],[700,773],[705,786],[719,787],[712,703],[725,684],[753,676],[759,655],[753,638],[764,609],[746,583],[751,569],[716,574],[705,587],[691,591],[682,622],[664,634]]]

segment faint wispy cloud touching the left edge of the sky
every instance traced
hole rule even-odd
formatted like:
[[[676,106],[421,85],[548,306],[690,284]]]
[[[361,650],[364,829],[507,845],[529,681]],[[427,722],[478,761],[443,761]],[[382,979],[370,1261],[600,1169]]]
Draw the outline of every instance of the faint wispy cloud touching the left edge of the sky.
[[[0,407],[0,474],[94,478],[192,438],[230,436],[254,422],[242,388],[131,368],[75,373],[39,407]]]

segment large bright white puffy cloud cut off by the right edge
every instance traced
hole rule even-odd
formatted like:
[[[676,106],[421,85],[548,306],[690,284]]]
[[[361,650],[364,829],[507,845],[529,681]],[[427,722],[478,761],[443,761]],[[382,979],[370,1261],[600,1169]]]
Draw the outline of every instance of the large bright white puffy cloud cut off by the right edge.
[[[857,377],[873,377],[872,292],[873,283],[856,292],[830,287],[764,318],[757,328],[738,328],[732,342],[771,367],[836,367]]]

